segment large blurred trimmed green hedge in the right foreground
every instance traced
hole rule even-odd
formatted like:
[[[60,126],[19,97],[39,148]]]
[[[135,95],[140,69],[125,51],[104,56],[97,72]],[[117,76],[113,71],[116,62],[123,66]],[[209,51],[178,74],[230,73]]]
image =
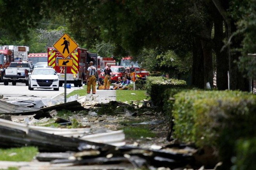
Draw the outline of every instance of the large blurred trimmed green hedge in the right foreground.
[[[239,91],[188,90],[170,107],[174,136],[182,142],[218,148],[223,169],[232,165],[235,144],[256,134],[256,95]]]

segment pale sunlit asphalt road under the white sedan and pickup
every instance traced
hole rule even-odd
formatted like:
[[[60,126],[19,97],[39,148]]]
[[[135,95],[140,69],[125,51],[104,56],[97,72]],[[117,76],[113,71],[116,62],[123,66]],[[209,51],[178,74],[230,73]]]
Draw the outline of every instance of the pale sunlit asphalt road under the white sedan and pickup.
[[[81,89],[82,87],[74,87],[71,84],[71,88],[67,88],[67,94],[73,90]],[[3,95],[5,100],[36,100],[51,98],[64,94],[64,87],[60,87],[59,91],[54,91],[53,89],[42,89],[35,88],[34,90],[28,90],[28,86],[25,83],[17,83],[16,86],[13,86],[11,83],[8,86],[0,83],[0,95]]]

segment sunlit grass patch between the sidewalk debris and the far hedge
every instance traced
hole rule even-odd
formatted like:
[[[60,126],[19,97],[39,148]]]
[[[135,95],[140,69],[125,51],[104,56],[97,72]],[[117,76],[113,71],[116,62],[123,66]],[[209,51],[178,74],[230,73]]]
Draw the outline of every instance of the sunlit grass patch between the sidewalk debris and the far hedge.
[[[116,101],[128,102],[147,99],[146,90],[116,90]]]

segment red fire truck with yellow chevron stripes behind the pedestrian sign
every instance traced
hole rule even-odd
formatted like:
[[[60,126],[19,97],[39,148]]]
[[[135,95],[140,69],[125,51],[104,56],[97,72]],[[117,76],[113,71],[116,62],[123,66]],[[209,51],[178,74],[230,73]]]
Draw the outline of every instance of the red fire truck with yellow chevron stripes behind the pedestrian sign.
[[[74,87],[81,87],[86,83],[86,70],[90,61],[93,61],[95,68],[97,68],[97,54],[90,53],[87,49],[76,48],[67,58],[64,58],[55,48],[47,49],[48,66],[52,66],[59,75],[59,86],[62,86],[65,81],[65,67],[59,66],[59,59],[73,59],[73,66],[66,68],[67,83],[74,84]]]

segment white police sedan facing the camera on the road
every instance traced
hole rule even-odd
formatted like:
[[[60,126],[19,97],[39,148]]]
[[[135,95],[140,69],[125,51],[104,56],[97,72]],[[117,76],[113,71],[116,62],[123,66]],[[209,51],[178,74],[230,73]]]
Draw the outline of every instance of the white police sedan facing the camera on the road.
[[[28,89],[34,88],[53,88],[59,91],[59,76],[53,68],[34,68],[32,73],[28,73]]]

